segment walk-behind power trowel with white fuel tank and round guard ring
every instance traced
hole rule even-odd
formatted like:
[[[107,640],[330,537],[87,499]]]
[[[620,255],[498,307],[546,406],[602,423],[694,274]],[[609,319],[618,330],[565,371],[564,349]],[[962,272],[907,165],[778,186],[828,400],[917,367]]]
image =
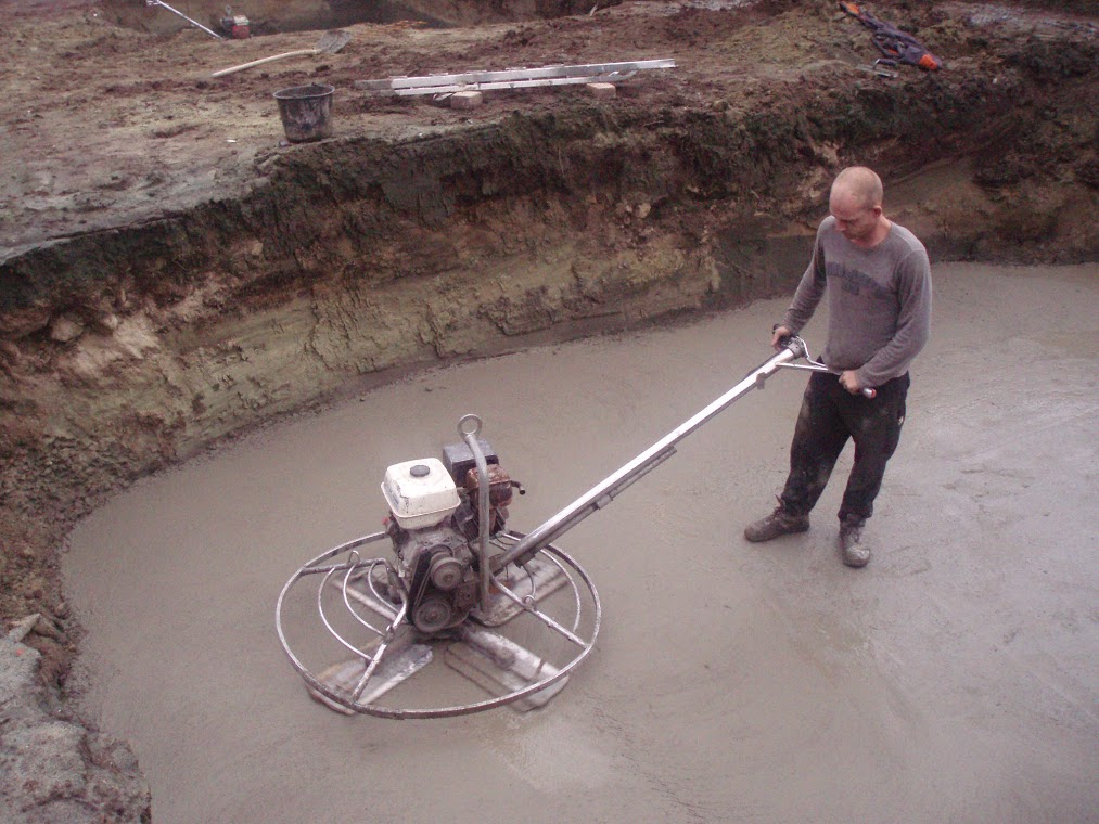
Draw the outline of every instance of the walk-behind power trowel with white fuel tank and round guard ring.
[[[279,641],[310,694],[340,712],[390,719],[545,704],[591,652],[602,615],[587,572],[553,542],[780,368],[830,371],[801,338],[786,339],[725,394],[526,534],[507,525],[508,506],[524,490],[480,437],[476,415],[458,422],[462,442],[442,459],[389,467],[385,530],[313,558],[279,594]],[[368,547],[386,543],[385,557],[368,557]],[[315,591],[297,586],[307,579]],[[302,590],[312,597],[290,597]],[[429,666],[440,657],[445,667]],[[446,675],[453,671],[467,680]]]

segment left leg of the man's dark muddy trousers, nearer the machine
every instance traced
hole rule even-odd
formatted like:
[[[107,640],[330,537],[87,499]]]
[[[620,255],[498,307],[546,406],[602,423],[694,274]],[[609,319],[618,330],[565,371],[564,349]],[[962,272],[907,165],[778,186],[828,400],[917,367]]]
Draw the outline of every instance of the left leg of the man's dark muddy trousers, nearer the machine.
[[[791,515],[808,515],[817,504],[851,437],[836,403],[841,394],[847,392],[835,375],[809,377],[790,444],[790,474],[780,495],[782,509]]]

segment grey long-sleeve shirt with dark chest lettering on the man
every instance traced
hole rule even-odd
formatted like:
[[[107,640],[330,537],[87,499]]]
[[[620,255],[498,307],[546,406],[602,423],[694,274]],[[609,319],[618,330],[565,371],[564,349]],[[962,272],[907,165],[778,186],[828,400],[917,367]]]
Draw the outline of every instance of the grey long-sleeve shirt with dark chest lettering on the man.
[[[864,249],[825,218],[782,325],[798,334],[825,292],[824,364],[854,369],[865,387],[908,371],[931,331],[931,265],[915,235],[893,223],[881,243]]]

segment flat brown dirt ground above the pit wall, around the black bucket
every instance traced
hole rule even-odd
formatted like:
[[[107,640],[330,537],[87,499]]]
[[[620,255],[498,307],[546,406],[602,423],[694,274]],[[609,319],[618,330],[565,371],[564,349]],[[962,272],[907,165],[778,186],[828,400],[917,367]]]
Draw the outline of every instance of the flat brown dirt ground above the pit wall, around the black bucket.
[[[333,85],[337,134],[404,138],[425,126],[460,127],[517,107],[524,113],[555,110],[563,97],[580,92],[566,87],[490,93],[484,108],[463,112],[425,107],[423,99],[370,99],[353,89],[356,80],[670,57],[678,59],[674,71],[623,86],[631,105],[654,113],[668,105],[737,110],[752,108],[761,96],[785,93],[790,98],[779,102],[792,113],[799,108],[797,89],[779,81],[835,63],[844,70],[823,81],[851,86],[872,77],[853,67],[879,56],[868,32],[831,3],[634,1],[602,13],[473,29],[414,22],[351,26],[353,38],[337,54],[214,79],[210,75],[219,69],[313,47],[319,34],[217,41],[185,27],[148,35],[116,25],[110,10],[93,2],[3,5],[13,15],[0,32],[12,62],[0,102],[10,158],[0,179],[5,256],[26,244],[148,221],[237,194],[278,152],[282,134],[271,94],[280,88]],[[787,7],[788,13],[779,13]],[[1072,44],[1095,37],[1094,20],[1046,9],[898,3],[888,11],[892,22],[948,54],[955,70],[986,59],[978,52],[986,38]],[[1086,60],[1087,53],[1077,59]],[[1059,63],[1046,70],[1074,70],[1070,51]],[[898,82],[923,79],[919,71],[901,74]],[[888,89],[889,81],[879,86]],[[1002,174],[1017,176],[1033,174],[1025,167],[1042,163],[1004,159],[1021,168]],[[1088,165],[1094,160],[1076,163],[1094,182],[1097,172]]]

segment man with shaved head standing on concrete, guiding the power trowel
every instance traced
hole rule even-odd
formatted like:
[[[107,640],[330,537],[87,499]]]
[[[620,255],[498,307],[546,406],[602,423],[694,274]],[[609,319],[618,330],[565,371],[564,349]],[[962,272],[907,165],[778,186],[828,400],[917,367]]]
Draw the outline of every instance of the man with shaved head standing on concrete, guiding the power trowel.
[[[831,214],[817,230],[812,260],[786,316],[775,325],[771,346],[798,334],[826,294],[821,360],[835,375],[810,377],[778,508],[744,531],[753,542],[806,532],[810,510],[853,438],[855,460],[839,513],[840,550],[850,567],[870,560],[863,526],[900,439],[909,364],[931,326],[928,253],[915,235],[882,214],[881,197],[881,180],[862,166],[844,169],[832,183]],[[864,397],[864,388],[875,389],[876,397]]]

